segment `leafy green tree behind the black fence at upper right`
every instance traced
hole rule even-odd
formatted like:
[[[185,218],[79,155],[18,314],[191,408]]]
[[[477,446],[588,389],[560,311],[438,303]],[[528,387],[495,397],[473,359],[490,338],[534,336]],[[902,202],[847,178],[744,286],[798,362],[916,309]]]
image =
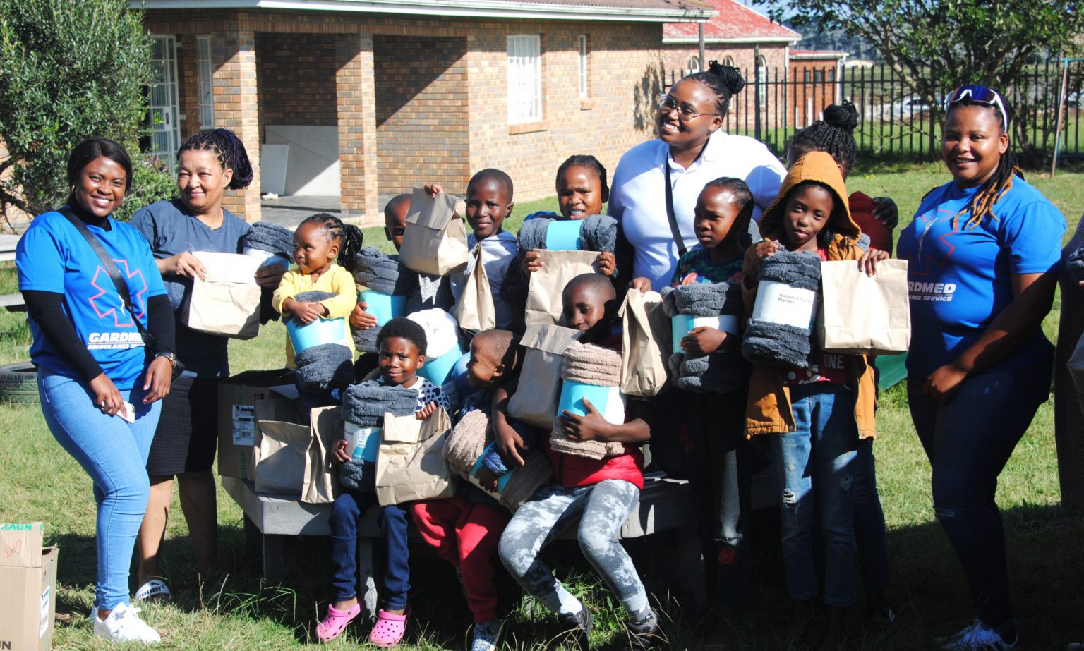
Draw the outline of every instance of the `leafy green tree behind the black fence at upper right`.
[[[953,88],[1005,90],[1037,58],[1077,52],[1084,34],[1084,0],[779,0],[770,13],[789,15],[798,28],[842,29],[864,39],[939,113]],[[1023,102],[1018,97],[1018,113],[1049,108],[1042,105],[1048,96],[1031,89]],[[1017,130],[1023,146],[1025,136]]]

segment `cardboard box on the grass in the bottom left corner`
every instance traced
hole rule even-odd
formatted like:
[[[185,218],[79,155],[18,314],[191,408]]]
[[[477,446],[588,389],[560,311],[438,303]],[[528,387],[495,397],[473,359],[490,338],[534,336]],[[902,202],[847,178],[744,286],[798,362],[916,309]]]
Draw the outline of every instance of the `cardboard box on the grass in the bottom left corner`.
[[[44,525],[0,524],[0,649],[48,650],[56,620],[56,547]]]

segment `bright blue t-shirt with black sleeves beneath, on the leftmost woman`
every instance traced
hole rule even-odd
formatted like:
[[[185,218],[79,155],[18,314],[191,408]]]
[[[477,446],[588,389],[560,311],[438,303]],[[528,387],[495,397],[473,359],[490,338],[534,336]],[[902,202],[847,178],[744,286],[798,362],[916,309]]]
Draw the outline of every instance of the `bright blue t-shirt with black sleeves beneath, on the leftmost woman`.
[[[146,327],[146,301],[166,294],[151,247],[139,231],[109,218],[111,230],[87,224],[102,242],[128,283],[136,315]],[[64,312],[79,339],[113,380],[128,390],[143,374],[143,338],[117,295],[109,274],[94,249],[60,212],[39,214],[23,233],[15,248],[21,291],[52,291],[64,295]],[[30,359],[47,370],[82,378],[67,360],[50,346],[34,320]]]

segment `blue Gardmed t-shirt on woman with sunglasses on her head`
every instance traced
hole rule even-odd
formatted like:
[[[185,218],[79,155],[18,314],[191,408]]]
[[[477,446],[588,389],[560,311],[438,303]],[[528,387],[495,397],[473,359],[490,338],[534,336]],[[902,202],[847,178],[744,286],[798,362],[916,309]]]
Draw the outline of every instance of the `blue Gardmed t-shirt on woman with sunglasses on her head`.
[[[978,187],[954,181],[938,187],[900,233],[898,255],[907,261],[911,350],[907,370],[925,378],[959,356],[1012,302],[1011,274],[1045,273],[1060,264],[1066,220],[1037,190],[1017,177],[994,205],[996,219],[967,227],[964,208]],[[988,372],[1027,366],[1050,348],[1042,330]]]

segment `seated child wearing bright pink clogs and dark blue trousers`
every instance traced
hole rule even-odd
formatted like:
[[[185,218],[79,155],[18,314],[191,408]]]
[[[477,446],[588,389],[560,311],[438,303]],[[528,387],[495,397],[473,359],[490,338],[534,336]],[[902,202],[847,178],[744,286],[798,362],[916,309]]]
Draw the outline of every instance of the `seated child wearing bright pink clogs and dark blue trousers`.
[[[380,377],[352,385],[343,399],[343,419],[361,427],[362,431],[367,430],[367,435],[364,441],[358,441],[356,451],[348,448],[345,439],[335,445],[335,459],[343,464],[339,473],[343,493],[332,504],[330,521],[335,600],[317,626],[321,642],[337,638],[361,612],[356,565],[358,521],[376,504],[373,479],[380,437],[375,428],[383,426],[385,413],[404,415],[403,412],[413,412],[418,420],[426,420],[438,408],[449,408],[440,387],[416,375],[425,363],[426,339],[422,326],[408,318],[392,318],[380,328],[377,347]],[[385,547],[386,595],[369,641],[377,647],[393,647],[402,639],[410,615],[406,606],[410,589],[406,511],[400,505],[384,506],[379,523]]]

